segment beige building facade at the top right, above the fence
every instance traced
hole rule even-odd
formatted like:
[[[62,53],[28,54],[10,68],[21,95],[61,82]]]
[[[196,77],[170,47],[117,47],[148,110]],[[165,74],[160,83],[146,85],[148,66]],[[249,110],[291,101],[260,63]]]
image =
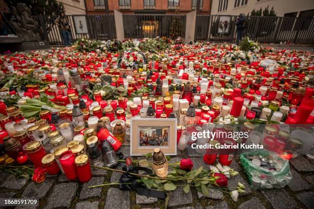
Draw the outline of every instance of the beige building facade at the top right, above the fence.
[[[314,0],[213,0],[211,14],[245,15],[253,9],[273,7],[277,16],[313,17]]]

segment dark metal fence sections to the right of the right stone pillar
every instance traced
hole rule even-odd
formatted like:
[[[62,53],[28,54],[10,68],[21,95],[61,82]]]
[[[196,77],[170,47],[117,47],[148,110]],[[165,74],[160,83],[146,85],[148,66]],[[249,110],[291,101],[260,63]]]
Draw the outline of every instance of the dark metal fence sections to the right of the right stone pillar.
[[[234,43],[237,16],[197,15],[195,39]],[[260,43],[314,44],[314,18],[247,16],[243,35]]]

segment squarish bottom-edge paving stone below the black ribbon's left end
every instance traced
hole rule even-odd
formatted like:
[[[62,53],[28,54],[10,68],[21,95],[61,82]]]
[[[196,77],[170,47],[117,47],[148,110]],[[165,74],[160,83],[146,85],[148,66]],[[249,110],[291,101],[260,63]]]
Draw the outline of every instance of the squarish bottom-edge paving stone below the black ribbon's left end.
[[[105,209],[129,209],[130,192],[111,187],[105,202]]]

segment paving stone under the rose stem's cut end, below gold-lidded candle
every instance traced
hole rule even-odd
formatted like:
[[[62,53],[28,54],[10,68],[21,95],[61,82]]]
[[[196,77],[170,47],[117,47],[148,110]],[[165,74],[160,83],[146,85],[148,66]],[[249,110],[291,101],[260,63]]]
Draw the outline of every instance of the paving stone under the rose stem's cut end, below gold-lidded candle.
[[[100,197],[102,194],[102,187],[88,188],[88,186],[102,184],[105,181],[105,177],[92,177],[88,182],[83,184],[82,191],[80,193],[80,199],[87,199],[89,197]]]

